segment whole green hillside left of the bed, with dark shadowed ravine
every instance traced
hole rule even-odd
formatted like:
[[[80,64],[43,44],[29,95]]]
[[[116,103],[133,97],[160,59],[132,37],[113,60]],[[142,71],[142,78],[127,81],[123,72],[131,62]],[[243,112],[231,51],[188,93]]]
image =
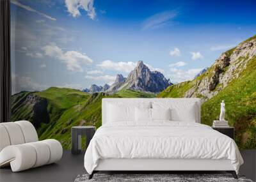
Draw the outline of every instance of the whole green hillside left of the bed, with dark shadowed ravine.
[[[60,140],[64,149],[71,148],[71,127],[77,125],[101,126],[102,98],[151,98],[151,93],[124,89],[115,95],[105,93],[88,94],[75,89],[50,87],[42,92],[22,92],[12,96],[12,121],[26,119],[36,125],[40,140]],[[31,99],[33,98],[33,99]],[[36,99],[35,99],[36,98]],[[44,105],[35,111],[35,105]],[[38,102],[39,101],[39,102]],[[19,107],[17,107],[19,106]],[[15,109],[17,108],[17,109]],[[36,114],[35,114],[36,113]],[[41,119],[49,116],[47,119]]]

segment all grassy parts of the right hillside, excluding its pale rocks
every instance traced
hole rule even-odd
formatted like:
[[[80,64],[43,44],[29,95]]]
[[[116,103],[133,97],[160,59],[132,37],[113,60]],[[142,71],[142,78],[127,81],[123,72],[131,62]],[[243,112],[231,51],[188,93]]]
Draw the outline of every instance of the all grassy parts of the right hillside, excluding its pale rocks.
[[[249,40],[255,38],[256,36]],[[246,40],[245,42],[248,41]],[[230,56],[234,50],[228,50],[228,55]],[[248,60],[247,56],[239,57],[237,63],[246,59]],[[207,72],[194,80],[168,87],[159,93],[157,97],[184,97],[192,87],[196,91],[198,82],[211,77],[212,69],[213,67],[211,66]],[[216,86],[216,89],[218,89],[219,85]],[[204,98],[205,102],[202,104],[201,122],[210,126],[212,125],[212,121],[218,119],[220,115],[221,100],[225,100],[225,119],[228,120],[230,126],[235,127],[237,145],[239,148],[244,149],[256,148],[256,56],[248,61],[243,72],[239,73],[239,77],[235,77],[218,94],[209,99],[200,94],[197,94],[195,97]]]

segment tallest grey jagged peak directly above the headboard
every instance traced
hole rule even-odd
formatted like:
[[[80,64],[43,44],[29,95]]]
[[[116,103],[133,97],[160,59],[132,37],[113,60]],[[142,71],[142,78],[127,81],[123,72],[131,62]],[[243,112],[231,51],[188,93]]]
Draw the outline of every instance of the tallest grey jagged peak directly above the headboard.
[[[143,61],[138,61],[136,68],[129,73],[125,80],[124,87],[127,89],[158,93],[171,84],[170,80],[167,80],[162,73],[157,71],[151,72],[143,64]]]

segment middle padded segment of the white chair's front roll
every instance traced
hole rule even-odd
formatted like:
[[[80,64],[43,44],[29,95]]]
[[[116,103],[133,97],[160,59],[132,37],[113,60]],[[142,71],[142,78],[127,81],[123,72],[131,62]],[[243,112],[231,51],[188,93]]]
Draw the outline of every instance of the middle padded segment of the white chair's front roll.
[[[39,142],[31,142],[28,145],[33,146],[36,151],[36,163],[33,167],[38,167],[41,165],[45,165],[49,162],[51,152],[47,144],[42,141]]]

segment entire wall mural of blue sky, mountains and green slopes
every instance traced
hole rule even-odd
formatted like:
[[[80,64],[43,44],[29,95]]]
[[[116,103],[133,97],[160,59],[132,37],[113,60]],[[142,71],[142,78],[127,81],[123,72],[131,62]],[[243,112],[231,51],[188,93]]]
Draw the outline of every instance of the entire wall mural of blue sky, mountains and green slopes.
[[[12,121],[70,148],[102,98],[202,98],[256,148],[255,1],[11,1]],[[230,8],[227,8],[230,7]]]

